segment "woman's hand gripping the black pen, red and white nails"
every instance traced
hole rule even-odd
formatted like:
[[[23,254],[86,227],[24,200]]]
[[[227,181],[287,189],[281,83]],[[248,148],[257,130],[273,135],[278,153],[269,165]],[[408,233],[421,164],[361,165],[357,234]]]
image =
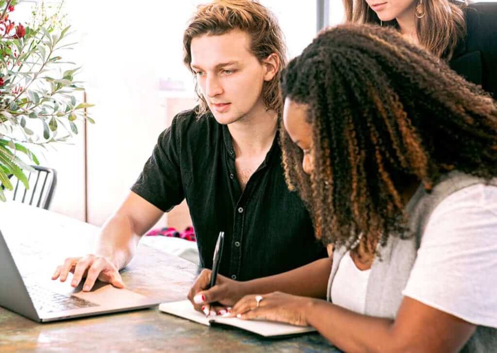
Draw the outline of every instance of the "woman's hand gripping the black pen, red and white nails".
[[[217,275],[216,285],[210,289],[211,270],[204,269],[193,283],[188,292],[188,299],[197,311],[206,315],[224,315],[228,313],[228,308],[233,306],[248,292],[245,290],[244,282],[229,279],[220,274]],[[218,302],[221,307],[210,307],[210,303]]]

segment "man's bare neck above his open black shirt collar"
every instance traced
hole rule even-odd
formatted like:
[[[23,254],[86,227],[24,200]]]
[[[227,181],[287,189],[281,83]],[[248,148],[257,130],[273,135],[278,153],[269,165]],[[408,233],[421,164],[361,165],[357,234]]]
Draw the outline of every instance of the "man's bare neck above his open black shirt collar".
[[[278,128],[278,114],[260,105],[242,119],[228,125],[237,157],[266,154],[271,148]]]

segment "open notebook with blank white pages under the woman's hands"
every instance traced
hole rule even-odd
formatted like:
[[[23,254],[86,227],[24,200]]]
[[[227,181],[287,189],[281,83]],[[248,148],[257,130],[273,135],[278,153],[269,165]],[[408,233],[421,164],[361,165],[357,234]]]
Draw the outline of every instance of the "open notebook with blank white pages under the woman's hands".
[[[216,316],[205,317],[204,314],[195,311],[193,309],[193,305],[188,300],[163,303],[159,305],[159,310],[164,311],[167,314],[172,314],[190,321],[198,322],[202,325],[210,326],[211,323],[215,323],[235,326],[242,330],[247,330],[264,337],[287,336],[316,331],[314,327],[310,326],[301,327],[272,321],[240,320],[237,318],[223,318]]]

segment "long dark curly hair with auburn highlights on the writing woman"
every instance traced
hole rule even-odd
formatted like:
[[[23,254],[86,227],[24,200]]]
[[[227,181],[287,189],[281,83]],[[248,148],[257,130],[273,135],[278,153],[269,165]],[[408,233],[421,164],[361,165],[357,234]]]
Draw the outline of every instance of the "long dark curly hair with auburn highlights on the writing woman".
[[[308,106],[314,171],[284,126],[286,181],[323,243],[362,233],[384,245],[408,236],[402,193],[430,190],[450,170],[497,176],[497,105],[491,96],[395,30],[344,24],[322,32],[283,71],[283,98]]]

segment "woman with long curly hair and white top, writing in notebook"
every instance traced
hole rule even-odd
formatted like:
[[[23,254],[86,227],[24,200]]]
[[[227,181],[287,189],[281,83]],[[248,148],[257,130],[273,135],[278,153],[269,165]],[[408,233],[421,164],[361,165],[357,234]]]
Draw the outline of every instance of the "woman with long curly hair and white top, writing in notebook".
[[[496,102],[370,25],[321,33],[281,83],[287,183],[332,258],[210,290],[204,270],[196,297],[346,352],[495,350]]]

